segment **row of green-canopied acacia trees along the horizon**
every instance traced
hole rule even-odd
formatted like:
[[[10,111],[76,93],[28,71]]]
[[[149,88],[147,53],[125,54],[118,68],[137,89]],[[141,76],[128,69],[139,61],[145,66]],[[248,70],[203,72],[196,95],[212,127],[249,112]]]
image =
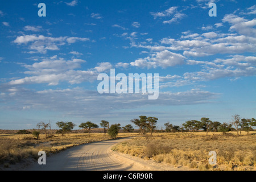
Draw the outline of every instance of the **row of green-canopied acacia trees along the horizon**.
[[[154,130],[156,130],[156,123],[158,122],[158,118],[156,117],[147,117],[146,115],[141,115],[139,118],[131,119],[130,121],[135,126],[139,128],[140,134],[145,134],[146,132],[150,132],[150,135],[152,136],[152,133]],[[76,126],[73,122],[63,122],[58,121],[56,122],[57,127],[59,127],[59,130],[57,130],[57,134],[65,135],[66,133],[70,133],[73,128]],[[121,125],[114,124],[109,125],[108,121],[102,120],[100,122],[100,126],[104,129],[104,135],[108,133],[110,137],[116,138],[119,130],[122,129],[124,132],[132,132],[134,131],[134,128],[132,125],[126,125],[121,127]],[[209,131],[214,132],[222,132],[223,134],[227,133],[228,131],[237,131],[237,135],[242,135],[242,131],[246,131],[247,134],[250,133],[250,131],[253,131],[253,127],[256,126],[256,119],[241,119],[240,115],[236,114],[232,116],[232,122],[227,123],[220,123],[218,121],[211,121],[209,118],[201,118],[200,121],[197,120],[189,120],[183,123],[181,126],[172,125],[170,122],[164,123],[164,126],[166,127],[165,132],[167,133],[176,133],[176,132],[198,132],[198,131],[205,131],[208,135]],[[234,128],[232,127],[234,126]],[[51,129],[51,124],[39,122],[36,127],[38,129],[42,129],[43,133],[45,134],[45,137],[47,138],[47,129]],[[97,129],[99,126],[96,123],[87,121],[84,123],[81,123],[79,125],[80,129],[83,129],[88,135],[90,136],[90,132],[92,129]],[[163,130],[162,130],[163,131]],[[39,131],[33,131],[33,133],[37,138],[39,137]]]

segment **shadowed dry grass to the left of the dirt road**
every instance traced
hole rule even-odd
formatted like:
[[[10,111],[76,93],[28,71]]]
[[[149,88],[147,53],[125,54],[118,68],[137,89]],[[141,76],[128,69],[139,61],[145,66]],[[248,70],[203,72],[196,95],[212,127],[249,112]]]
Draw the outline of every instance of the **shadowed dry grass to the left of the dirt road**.
[[[119,138],[131,137],[134,134],[118,134]],[[79,146],[80,144],[111,139],[107,134],[54,134],[45,139],[44,134],[36,140],[32,134],[0,134],[0,164],[8,167],[9,164],[21,162],[23,159],[38,159],[38,152],[45,151],[52,154],[66,148]]]

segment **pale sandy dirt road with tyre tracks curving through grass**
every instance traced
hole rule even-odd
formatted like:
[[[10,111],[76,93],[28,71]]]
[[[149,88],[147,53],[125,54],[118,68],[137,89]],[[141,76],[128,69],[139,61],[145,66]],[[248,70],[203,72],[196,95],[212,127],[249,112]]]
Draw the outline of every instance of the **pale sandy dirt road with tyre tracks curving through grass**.
[[[136,165],[127,164],[116,157],[115,152],[110,148],[119,142],[127,140],[106,140],[93,142],[69,148],[59,154],[46,158],[46,165],[39,165],[37,162],[31,164],[26,171],[139,171]]]

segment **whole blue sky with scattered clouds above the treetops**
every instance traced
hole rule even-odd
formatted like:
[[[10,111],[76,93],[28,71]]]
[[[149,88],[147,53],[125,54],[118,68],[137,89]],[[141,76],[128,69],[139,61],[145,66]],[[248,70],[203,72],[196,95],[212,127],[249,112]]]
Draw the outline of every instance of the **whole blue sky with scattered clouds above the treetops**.
[[[255,14],[254,1],[238,0],[1,1],[0,129],[102,119],[124,126],[139,115],[159,118],[159,128],[253,118]],[[99,94],[97,76],[111,68],[159,73],[158,100]]]

